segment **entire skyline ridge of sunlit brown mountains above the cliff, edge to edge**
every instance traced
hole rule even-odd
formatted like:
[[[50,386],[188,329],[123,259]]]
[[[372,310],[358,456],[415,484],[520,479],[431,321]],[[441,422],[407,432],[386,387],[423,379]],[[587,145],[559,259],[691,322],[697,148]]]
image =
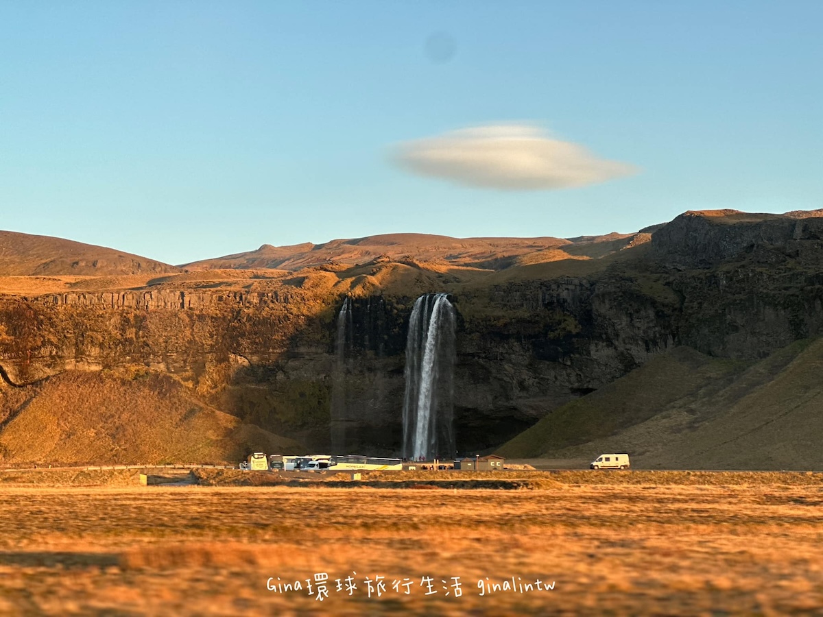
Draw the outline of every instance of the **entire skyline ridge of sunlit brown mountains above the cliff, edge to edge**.
[[[391,233],[351,239],[332,239],[276,246],[262,244],[250,251],[208,257],[179,266],[115,248],[85,244],[39,234],[0,230],[0,276],[114,276],[171,274],[184,270],[282,269],[297,271],[330,263],[362,265],[380,259],[415,259],[447,262],[456,266],[500,269],[518,263],[534,263],[541,253],[547,262],[566,258],[599,258],[629,245],[649,242],[654,234],[683,220],[713,224],[757,225],[772,221],[802,222],[823,217],[823,209],[788,211],[783,214],[738,210],[686,211],[666,223],[648,225],[627,234],[611,232],[570,238],[553,236],[455,238],[439,234]],[[677,226],[677,225],[675,225]],[[603,248],[610,244],[611,248]],[[550,254],[554,252],[554,254]]]

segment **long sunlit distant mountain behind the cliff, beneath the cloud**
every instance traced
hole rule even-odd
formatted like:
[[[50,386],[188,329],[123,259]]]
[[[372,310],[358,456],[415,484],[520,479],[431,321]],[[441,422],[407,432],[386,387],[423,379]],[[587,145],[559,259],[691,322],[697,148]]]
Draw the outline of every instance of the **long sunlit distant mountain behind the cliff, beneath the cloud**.
[[[603,257],[625,248],[639,234],[607,234],[562,238],[450,238],[430,234],[384,234],[337,239],[325,244],[275,247],[185,264],[189,270],[278,268],[300,270],[337,262],[346,265],[374,261],[449,262],[489,270],[521,263]],[[644,234],[648,236],[648,234]],[[648,237],[643,241],[648,240]]]

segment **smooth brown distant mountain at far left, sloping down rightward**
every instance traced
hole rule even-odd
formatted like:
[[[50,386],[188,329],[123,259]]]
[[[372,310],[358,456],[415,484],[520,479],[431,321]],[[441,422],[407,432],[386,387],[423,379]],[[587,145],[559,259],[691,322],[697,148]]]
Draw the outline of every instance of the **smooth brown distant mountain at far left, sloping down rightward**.
[[[180,268],[114,248],[0,231],[0,276],[170,274]]]

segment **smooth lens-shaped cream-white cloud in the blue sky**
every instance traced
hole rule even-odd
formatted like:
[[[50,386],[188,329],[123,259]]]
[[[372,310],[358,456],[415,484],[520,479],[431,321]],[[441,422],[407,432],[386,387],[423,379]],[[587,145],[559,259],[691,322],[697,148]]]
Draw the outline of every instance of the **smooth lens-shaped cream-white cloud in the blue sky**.
[[[631,165],[598,159],[529,125],[464,128],[406,141],[393,159],[416,174],[509,190],[582,187],[636,173]]]

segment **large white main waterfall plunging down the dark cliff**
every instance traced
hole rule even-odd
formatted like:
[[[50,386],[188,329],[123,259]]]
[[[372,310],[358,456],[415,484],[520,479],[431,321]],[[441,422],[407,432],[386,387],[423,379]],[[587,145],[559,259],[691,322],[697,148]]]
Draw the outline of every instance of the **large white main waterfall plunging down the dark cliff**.
[[[409,320],[403,456],[452,457],[454,307],[446,294],[421,295]]]

